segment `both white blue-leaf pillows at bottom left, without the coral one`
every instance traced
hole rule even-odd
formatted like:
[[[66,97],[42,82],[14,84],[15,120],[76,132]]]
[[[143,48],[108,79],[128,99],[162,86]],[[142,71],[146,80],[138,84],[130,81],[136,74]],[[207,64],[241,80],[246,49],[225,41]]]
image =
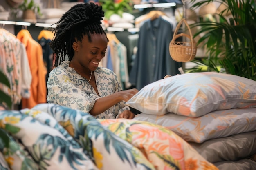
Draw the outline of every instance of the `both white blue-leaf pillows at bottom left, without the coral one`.
[[[90,114],[64,106],[39,104],[32,109],[1,111],[0,128],[18,140],[18,145],[9,149],[0,141],[0,151],[10,169],[155,170],[138,148]],[[17,149],[25,152],[17,155]]]

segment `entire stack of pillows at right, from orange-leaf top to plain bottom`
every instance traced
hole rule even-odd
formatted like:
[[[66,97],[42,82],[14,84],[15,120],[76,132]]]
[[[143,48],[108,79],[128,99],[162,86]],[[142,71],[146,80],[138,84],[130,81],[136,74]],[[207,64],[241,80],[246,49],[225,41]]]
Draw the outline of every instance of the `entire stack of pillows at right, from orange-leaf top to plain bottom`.
[[[126,104],[141,112],[134,120],[168,128],[218,168],[256,169],[248,158],[256,153],[256,81],[186,73],[148,84]]]

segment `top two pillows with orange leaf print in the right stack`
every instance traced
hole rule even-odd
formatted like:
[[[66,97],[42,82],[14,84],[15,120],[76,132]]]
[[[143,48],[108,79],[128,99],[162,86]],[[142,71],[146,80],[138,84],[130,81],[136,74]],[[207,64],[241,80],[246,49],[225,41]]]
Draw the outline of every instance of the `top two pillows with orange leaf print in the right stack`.
[[[166,126],[183,139],[208,139],[256,130],[256,82],[216,72],[186,73],[142,88],[126,104],[135,119]]]

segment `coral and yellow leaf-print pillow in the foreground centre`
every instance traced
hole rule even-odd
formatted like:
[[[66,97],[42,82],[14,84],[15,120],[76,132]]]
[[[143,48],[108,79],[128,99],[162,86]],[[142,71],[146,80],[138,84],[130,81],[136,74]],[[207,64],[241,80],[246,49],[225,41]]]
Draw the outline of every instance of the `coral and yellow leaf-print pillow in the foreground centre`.
[[[143,152],[157,170],[218,170],[171,130],[138,120],[98,119]]]

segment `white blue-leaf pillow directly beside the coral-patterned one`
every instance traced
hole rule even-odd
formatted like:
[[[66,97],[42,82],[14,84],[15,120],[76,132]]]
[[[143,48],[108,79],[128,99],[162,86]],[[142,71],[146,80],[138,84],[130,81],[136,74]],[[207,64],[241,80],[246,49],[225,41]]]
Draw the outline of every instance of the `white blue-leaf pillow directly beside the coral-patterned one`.
[[[92,155],[101,170],[155,169],[139,149],[110,132],[88,113],[55,104],[47,107],[40,104],[34,109],[51,114],[60,124],[69,125],[67,130]],[[111,163],[113,161],[115,163]]]

